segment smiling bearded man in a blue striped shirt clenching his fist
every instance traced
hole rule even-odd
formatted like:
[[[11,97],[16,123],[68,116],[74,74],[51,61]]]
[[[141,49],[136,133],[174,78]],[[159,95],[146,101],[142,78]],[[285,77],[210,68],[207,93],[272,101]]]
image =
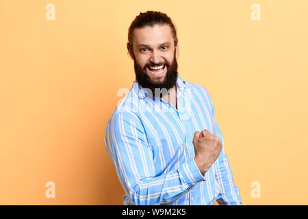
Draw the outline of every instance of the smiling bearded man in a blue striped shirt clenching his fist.
[[[242,205],[211,96],[177,73],[175,26],[140,13],[127,49],[136,81],[108,121],[105,145],[125,205]]]

